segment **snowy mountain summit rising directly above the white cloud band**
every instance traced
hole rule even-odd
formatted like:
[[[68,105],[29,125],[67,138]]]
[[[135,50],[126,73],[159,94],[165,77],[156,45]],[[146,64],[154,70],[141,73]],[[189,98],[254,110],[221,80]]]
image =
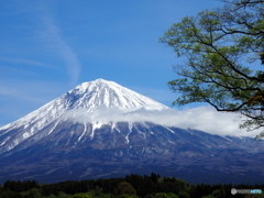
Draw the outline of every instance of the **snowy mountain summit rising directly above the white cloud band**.
[[[166,106],[156,102],[145,96],[122,87],[114,81],[97,79],[82,82],[75,89],[63,96],[70,109],[86,108],[87,111],[95,111],[98,107],[119,109],[167,109]]]

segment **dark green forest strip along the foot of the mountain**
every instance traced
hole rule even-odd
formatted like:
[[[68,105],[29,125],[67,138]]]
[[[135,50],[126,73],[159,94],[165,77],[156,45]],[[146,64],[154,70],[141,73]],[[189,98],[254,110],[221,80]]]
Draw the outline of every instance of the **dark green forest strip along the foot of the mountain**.
[[[231,189],[264,189],[264,185],[191,185],[175,177],[129,175],[124,178],[67,180],[38,184],[35,180],[7,180],[0,186],[0,198],[215,198],[264,197],[231,195]]]

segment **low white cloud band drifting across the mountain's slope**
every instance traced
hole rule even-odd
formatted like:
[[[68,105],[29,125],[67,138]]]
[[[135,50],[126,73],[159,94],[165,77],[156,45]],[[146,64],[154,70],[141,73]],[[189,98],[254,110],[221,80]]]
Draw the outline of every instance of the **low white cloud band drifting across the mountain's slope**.
[[[103,113],[102,113],[103,112]],[[110,117],[109,117],[110,116]],[[182,129],[196,129],[211,134],[233,135],[233,136],[253,136],[260,131],[246,132],[239,129],[239,116],[235,113],[217,112],[211,107],[198,107],[185,110],[163,110],[148,111],[135,110],[123,112],[118,108],[100,107],[97,111],[90,113],[86,109],[72,110],[64,117],[73,119],[75,122],[153,122],[167,127]]]

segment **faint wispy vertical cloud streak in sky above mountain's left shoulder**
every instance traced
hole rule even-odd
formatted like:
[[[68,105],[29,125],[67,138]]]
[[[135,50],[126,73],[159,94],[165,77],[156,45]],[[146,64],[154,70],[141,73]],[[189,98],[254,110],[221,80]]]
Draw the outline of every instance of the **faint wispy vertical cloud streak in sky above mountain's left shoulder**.
[[[70,82],[75,85],[78,81],[81,64],[74,52],[61,34],[61,29],[55,20],[50,14],[45,4],[41,6],[41,22],[43,23],[43,31],[41,36],[46,46],[55,54],[61,56],[67,66],[67,73],[70,77]]]

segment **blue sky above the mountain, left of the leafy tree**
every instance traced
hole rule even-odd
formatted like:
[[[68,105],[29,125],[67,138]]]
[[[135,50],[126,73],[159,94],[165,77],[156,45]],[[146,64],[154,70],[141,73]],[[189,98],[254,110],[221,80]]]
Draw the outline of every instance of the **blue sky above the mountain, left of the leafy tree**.
[[[0,127],[103,78],[170,106],[179,61],[158,37],[215,0],[9,0],[0,7]]]

